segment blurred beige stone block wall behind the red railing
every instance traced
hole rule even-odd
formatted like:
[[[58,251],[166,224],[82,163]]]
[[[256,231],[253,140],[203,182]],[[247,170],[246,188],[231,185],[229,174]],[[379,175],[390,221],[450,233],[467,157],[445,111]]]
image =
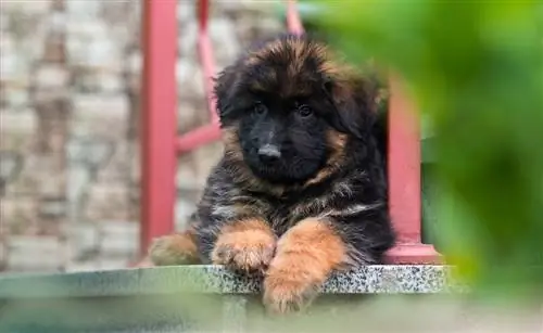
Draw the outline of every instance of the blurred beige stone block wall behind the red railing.
[[[126,266],[139,213],[140,15],[137,0],[2,0],[0,270]],[[267,1],[212,1],[220,69],[282,29]],[[207,121],[194,1],[179,0],[178,129]],[[177,222],[220,153],[179,158]]]

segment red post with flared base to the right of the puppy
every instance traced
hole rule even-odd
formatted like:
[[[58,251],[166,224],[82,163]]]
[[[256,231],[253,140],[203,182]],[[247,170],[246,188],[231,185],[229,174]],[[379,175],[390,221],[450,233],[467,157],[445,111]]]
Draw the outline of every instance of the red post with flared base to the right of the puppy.
[[[397,232],[390,259],[395,264],[440,262],[433,246],[421,243],[419,120],[397,78],[390,80],[390,89],[389,201]]]

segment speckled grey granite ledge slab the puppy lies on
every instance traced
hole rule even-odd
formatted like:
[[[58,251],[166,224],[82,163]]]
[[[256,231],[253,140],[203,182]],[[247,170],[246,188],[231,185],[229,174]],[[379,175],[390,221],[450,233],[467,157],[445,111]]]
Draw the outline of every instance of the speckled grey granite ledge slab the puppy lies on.
[[[462,291],[450,266],[376,265],[336,273],[325,294],[433,294]],[[0,276],[0,299],[172,293],[253,294],[262,278],[220,266],[169,266],[92,272]]]

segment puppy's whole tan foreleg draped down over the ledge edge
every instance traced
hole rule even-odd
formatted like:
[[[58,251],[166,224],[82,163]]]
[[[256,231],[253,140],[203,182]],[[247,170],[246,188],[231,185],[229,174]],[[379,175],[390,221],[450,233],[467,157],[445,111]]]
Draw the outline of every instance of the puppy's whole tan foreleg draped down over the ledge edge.
[[[348,262],[348,248],[327,220],[307,218],[285,233],[264,280],[264,305],[270,312],[301,310],[323,283]]]

